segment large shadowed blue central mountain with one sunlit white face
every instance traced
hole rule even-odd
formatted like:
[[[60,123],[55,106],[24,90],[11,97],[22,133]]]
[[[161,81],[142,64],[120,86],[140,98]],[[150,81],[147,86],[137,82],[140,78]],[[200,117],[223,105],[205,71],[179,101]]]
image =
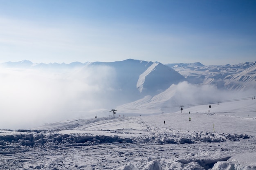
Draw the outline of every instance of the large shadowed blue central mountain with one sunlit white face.
[[[123,95],[156,95],[165,91],[171,84],[178,84],[186,79],[172,68],[159,62],[145,62],[139,60],[124,60],[121,62],[94,62],[93,66],[110,66],[115,71],[115,86]],[[119,91],[120,94],[120,91]]]

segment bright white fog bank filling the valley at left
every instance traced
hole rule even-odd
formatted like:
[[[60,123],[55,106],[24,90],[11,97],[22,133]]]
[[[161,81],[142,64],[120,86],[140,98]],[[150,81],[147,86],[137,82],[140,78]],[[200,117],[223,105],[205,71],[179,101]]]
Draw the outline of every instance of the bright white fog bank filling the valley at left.
[[[115,71],[107,66],[62,72],[0,68],[0,79],[0,128],[33,128],[111,106]]]

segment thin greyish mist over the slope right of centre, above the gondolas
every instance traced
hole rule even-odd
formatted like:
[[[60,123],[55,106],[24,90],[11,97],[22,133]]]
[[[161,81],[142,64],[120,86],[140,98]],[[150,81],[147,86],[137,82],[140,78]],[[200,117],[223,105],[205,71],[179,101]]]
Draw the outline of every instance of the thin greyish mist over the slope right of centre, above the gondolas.
[[[196,85],[188,82],[181,82],[177,85],[172,85],[166,92],[169,91],[169,99],[166,105],[170,106],[195,106],[201,104],[216,104],[218,102],[229,102],[232,100],[251,99],[254,89],[247,91],[234,91],[218,89],[214,85]],[[168,93],[164,92],[164,95]],[[170,93],[171,92],[171,93]],[[160,95],[161,96],[161,95]],[[173,108],[173,111],[180,108]]]

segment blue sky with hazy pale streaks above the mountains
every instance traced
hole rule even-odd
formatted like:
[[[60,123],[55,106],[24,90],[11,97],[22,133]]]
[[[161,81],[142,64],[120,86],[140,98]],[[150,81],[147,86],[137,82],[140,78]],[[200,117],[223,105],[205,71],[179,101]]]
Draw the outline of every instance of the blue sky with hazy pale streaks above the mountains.
[[[0,62],[256,61],[256,0],[0,0]]]

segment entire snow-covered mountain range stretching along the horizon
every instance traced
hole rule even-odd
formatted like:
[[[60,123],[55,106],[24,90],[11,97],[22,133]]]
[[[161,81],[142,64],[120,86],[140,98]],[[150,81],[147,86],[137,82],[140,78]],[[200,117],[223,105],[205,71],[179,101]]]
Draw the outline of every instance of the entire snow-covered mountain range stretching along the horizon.
[[[65,72],[67,69],[74,68],[108,66],[115,71],[115,73],[111,73],[116,75],[114,88],[119,88],[121,91],[132,90],[132,93],[139,92],[144,95],[156,95],[165,91],[172,84],[183,81],[188,81],[191,84],[211,84],[217,88],[228,90],[245,90],[256,87],[256,62],[204,66],[200,62],[162,64],[132,59],[119,62],[72,62],[70,64],[32,63],[23,60],[5,62],[0,65],[9,68],[37,68],[50,71],[63,69]],[[138,91],[134,90],[135,86]]]

